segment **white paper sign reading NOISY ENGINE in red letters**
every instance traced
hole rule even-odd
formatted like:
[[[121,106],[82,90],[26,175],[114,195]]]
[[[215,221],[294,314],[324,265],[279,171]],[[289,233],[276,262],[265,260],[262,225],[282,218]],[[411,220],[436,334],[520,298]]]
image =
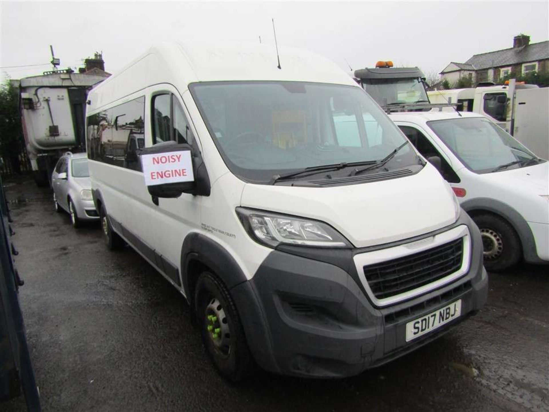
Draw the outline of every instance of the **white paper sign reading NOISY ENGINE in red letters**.
[[[141,165],[147,186],[194,180],[189,151],[142,154]]]

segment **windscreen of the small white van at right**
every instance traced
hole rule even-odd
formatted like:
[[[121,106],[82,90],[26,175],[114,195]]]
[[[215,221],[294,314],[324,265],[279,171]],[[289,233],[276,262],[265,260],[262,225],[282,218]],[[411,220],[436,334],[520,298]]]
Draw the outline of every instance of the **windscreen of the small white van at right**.
[[[469,169],[488,173],[537,163],[536,156],[486,118],[428,121],[427,125]]]

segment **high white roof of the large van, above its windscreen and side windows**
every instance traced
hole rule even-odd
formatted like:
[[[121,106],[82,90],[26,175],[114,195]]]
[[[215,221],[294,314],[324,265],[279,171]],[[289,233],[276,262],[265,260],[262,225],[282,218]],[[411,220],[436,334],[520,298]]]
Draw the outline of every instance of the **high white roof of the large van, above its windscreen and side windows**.
[[[278,51],[282,69],[278,69],[275,44],[159,43],[94,88],[90,109],[158,83],[172,83],[180,92],[189,83],[203,81],[307,81],[359,87],[325,57],[287,46],[279,46]],[[142,79],[139,87],[136,79]],[[110,94],[103,103],[93,97],[99,90]]]

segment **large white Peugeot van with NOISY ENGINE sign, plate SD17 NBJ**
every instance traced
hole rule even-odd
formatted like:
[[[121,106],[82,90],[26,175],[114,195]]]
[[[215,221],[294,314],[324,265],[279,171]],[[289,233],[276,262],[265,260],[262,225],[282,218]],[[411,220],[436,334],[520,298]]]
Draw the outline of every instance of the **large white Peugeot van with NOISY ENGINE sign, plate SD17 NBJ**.
[[[228,380],[355,375],[485,302],[448,183],[318,55],[152,47],[89,93],[87,144],[107,247],[181,292]]]

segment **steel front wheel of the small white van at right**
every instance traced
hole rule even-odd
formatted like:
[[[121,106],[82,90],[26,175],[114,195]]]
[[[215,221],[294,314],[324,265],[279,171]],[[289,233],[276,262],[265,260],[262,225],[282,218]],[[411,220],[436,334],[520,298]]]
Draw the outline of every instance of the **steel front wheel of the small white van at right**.
[[[488,271],[511,268],[522,257],[517,232],[499,216],[483,214],[473,218],[480,230],[484,247],[484,266]]]

